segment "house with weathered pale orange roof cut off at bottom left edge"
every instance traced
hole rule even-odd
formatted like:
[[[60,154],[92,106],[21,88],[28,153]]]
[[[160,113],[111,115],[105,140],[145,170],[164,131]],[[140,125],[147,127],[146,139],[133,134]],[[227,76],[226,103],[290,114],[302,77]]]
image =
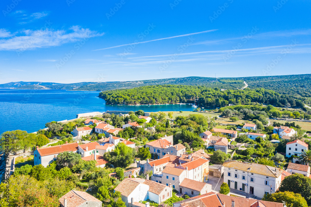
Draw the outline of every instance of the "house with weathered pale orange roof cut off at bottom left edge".
[[[95,198],[94,196],[83,192],[71,190],[60,199],[58,199],[61,207],[101,207],[102,202]]]

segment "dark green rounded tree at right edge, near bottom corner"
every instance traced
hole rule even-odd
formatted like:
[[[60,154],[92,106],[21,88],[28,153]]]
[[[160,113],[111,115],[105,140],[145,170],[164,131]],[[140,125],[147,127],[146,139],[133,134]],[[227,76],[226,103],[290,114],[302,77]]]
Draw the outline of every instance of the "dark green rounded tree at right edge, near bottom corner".
[[[307,201],[308,206],[311,205],[311,179],[309,177],[299,173],[287,176],[282,180],[279,191],[299,193]]]

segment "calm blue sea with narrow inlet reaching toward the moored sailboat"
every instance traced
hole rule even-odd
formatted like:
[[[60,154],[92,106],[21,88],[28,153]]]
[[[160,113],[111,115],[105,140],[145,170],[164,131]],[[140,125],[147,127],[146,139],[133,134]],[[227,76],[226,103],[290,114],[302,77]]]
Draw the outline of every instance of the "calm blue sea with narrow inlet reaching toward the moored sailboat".
[[[106,105],[98,91],[0,89],[0,134],[16,129],[27,132],[43,129],[45,123],[76,118],[77,113],[111,111],[192,111],[186,105]]]

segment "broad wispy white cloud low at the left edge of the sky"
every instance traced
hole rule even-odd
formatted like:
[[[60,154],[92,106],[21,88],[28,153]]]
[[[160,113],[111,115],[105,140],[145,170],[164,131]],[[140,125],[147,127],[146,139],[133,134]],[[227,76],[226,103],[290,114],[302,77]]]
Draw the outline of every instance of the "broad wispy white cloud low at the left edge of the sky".
[[[10,38],[0,38],[0,50],[30,50],[53,47],[104,35],[104,33],[84,29],[80,26],[72,26],[69,30],[70,32],[52,29],[22,30]]]

